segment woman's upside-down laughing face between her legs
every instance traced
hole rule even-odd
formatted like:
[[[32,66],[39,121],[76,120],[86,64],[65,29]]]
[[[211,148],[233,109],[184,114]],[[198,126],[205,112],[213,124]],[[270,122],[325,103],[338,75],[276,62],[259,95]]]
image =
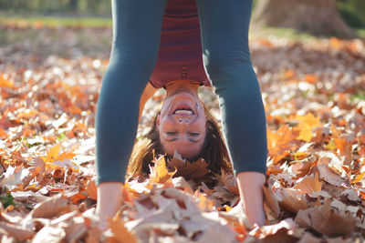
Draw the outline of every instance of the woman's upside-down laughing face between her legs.
[[[170,156],[177,150],[183,157],[196,157],[203,147],[205,125],[203,103],[189,91],[166,96],[157,117],[161,144]]]

